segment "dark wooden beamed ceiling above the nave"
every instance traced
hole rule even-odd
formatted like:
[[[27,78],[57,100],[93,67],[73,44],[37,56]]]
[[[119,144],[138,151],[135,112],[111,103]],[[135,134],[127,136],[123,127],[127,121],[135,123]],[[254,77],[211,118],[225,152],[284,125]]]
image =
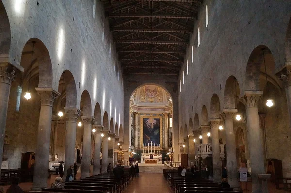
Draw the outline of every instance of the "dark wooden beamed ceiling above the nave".
[[[203,0],[101,0],[125,74],[179,75]]]

